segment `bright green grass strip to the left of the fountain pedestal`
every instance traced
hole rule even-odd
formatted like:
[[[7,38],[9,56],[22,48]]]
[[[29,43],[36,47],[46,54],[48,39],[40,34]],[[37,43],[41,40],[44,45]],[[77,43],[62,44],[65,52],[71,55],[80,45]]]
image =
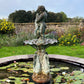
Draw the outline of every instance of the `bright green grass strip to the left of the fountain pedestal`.
[[[34,54],[34,52],[35,49],[31,46],[2,47],[0,48],[0,58],[13,55]]]

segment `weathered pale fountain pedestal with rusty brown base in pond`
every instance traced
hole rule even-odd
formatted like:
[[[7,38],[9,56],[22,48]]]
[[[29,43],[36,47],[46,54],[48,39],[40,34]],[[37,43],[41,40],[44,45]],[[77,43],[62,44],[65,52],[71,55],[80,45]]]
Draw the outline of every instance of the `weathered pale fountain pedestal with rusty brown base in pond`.
[[[39,46],[33,58],[32,79],[37,83],[45,83],[51,79],[49,57],[41,46]]]

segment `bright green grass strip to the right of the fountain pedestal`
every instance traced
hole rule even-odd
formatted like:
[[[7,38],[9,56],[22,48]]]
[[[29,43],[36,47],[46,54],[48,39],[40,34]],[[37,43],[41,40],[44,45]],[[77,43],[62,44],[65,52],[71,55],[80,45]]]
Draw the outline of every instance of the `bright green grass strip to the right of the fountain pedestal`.
[[[49,54],[67,55],[84,58],[84,46],[54,46],[47,49]]]

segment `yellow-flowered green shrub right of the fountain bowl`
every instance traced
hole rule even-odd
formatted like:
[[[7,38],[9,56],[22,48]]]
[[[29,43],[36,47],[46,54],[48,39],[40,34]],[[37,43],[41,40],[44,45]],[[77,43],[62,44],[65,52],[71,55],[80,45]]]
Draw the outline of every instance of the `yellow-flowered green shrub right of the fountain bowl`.
[[[73,34],[62,35],[60,38],[58,38],[58,41],[59,45],[65,46],[76,45],[77,43],[80,43],[80,39],[77,38],[77,35]]]

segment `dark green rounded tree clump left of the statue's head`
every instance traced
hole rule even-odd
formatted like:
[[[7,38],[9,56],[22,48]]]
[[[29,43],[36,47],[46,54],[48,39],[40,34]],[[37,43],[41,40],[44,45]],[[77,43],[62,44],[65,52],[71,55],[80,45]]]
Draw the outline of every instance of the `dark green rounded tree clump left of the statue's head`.
[[[9,14],[8,20],[14,23],[32,22],[35,15],[31,11],[18,10]]]

